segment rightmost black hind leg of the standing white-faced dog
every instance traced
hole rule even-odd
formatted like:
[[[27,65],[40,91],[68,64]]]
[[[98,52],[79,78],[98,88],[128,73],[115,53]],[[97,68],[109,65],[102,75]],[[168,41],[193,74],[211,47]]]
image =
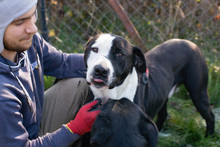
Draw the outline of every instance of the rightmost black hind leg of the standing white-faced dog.
[[[198,73],[197,71],[202,71]],[[184,85],[198,112],[206,121],[206,135],[214,134],[215,116],[211,111],[207,92],[208,71],[205,63],[191,64],[185,70]]]

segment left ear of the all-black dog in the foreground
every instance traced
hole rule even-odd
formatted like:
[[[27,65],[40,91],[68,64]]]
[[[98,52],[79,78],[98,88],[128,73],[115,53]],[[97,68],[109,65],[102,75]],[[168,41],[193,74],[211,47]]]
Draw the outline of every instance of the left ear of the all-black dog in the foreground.
[[[107,143],[112,133],[110,122],[104,117],[97,117],[91,131],[90,144],[94,146]]]

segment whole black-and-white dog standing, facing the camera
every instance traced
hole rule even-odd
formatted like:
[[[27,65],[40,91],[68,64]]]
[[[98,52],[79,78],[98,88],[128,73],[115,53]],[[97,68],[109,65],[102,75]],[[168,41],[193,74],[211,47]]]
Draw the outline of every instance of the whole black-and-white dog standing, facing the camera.
[[[99,34],[88,41],[84,58],[86,79],[95,97],[104,102],[126,97],[150,118],[158,115],[156,124],[161,130],[167,118],[168,96],[176,86],[184,84],[206,121],[206,133],[214,133],[207,66],[194,43],[172,39],[143,55],[138,47],[120,36]]]

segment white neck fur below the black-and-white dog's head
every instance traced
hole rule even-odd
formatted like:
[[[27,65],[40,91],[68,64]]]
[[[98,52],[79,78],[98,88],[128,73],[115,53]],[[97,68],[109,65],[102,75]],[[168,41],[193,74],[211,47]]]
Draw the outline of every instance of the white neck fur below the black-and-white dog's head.
[[[128,74],[121,85],[116,86],[113,89],[96,89],[95,87],[91,87],[91,90],[93,91],[95,98],[101,98],[103,103],[105,103],[109,98],[121,99],[123,97],[126,97],[133,102],[137,86],[138,75],[135,67],[133,67],[132,73]]]

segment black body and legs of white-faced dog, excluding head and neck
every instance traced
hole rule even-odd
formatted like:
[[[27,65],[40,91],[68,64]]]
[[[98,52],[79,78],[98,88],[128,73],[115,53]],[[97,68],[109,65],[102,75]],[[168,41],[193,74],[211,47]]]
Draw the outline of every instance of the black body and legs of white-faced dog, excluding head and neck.
[[[206,121],[206,135],[212,135],[215,118],[207,92],[208,70],[198,46],[187,40],[172,39],[147,52],[145,59],[149,70],[148,83],[140,83],[134,102],[151,118],[158,114],[156,124],[161,130],[168,115],[168,95],[171,95],[171,89],[184,84]]]

